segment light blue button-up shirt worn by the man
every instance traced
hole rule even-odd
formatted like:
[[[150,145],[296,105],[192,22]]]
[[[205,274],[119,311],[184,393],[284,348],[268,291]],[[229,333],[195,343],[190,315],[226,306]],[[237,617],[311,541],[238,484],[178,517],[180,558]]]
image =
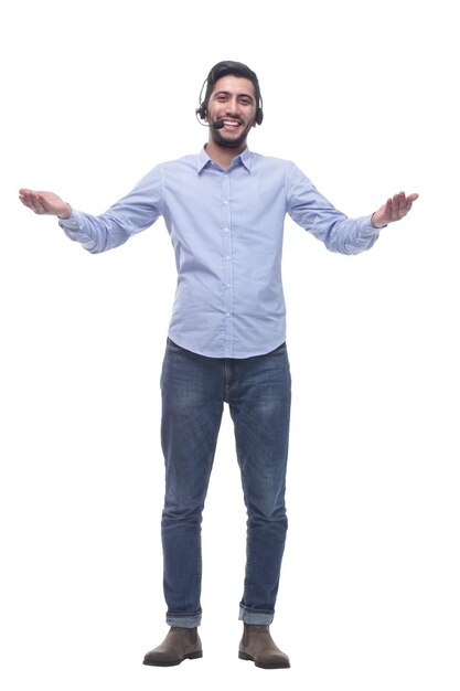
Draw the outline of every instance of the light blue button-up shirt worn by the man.
[[[225,170],[205,149],[161,163],[101,215],[72,210],[60,225],[99,253],[163,216],[178,267],[169,337],[210,358],[249,358],[286,339],[286,213],[332,252],[357,254],[378,237],[371,215],[349,219],[293,163],[248,149]]]

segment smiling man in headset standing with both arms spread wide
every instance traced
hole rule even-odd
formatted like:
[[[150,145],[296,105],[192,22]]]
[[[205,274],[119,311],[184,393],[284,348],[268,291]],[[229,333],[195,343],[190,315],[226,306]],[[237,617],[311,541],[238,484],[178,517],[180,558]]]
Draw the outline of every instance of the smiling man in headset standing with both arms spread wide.
[[[71,209],[51,192],[21,190],[39,214],[54,214],[92,253],[125,243],[164,217],[178,288],[161,375],[165,461],[162,544],[164,641],[151,666],[202,657],[201,519],[224,403],[235,427],[247,507],[247,562],[239,658],[289,667],[269,625],[275,613],[287,518],[290,374],[285,343],[281,244],[286,213],[332,252],[372,247],[379,228],[408,213],[417,194],[396,194],[372,215],[347,219],[291,162],[246,146],[263,121],[257,75],[242,63],[215,65],[200,95],[208,140],[197,156],[157,166],[106,213]]]

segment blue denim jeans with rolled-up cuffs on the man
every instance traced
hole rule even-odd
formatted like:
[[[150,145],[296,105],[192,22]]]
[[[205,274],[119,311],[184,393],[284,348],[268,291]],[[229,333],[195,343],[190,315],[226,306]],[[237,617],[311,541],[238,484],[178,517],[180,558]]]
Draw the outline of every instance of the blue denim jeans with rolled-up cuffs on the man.
[[[189,628],[201,623],[202,511],[227,403],[247,508],[239,618],[246,624],[270,624],[288,525],[285,488],[291,394],[286,344],[266,355],[237,360],[197,355],[168,339],[161,391],[167,623]]]

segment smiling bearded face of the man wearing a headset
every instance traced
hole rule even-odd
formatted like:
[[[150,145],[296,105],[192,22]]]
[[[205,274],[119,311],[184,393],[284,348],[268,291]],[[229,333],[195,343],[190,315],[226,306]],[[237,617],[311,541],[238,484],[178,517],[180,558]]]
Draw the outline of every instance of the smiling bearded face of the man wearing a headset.
[[[255,125],[256,110],[256,95],[250,79],[232,74],[217,79],[207,103],[206,116],[213,140],[221,147],[240,147]],[[212,127],[216,120],[223,120],[222,129]]]

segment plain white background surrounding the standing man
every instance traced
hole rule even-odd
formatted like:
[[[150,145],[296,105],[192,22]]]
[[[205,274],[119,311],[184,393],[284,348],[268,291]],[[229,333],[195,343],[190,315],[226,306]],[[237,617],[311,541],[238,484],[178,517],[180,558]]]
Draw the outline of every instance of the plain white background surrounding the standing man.
[[[1,685],[458,691],[458,32],[453,2],[23,0],[1,20]],[[210,67],[261,84],[260,153],[349,215],[420,199],[357,257],[286,224],[290,528],[272,632],[237,659],[245,511],[226,414],[204,512],[204,658],[167,632],[159,375],[174,293],[160,221],[92,256],[18,201],[100,213],[197,151]],[[457,66],[456,66],[457,65]]]

